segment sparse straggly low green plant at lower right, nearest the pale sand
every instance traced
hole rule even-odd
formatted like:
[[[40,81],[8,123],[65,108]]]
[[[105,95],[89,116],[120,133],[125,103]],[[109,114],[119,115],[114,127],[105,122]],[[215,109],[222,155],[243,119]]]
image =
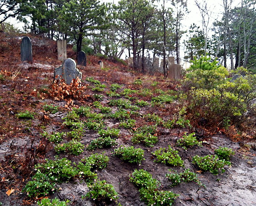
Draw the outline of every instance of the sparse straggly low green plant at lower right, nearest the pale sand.
[[[178,185],[181,182],[195,182],[200,186],[203,186],[196,173],[191,172],[190,169],[185,169],[184,172],[181,172],[179,174],[172,173],[172,170],[169,171],[170,173],[166,174],[166,177],[170,181],[172,181],[172,187]]]

